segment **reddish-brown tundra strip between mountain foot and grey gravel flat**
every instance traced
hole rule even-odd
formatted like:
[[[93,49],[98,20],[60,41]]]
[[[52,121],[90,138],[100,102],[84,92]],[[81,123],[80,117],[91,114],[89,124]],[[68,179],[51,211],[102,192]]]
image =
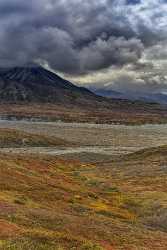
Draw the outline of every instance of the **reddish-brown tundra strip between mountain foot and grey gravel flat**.
[[[110,102],[83,105],[58,104],[0,104],[0,114],[4,118],[43,119],[64,122],[92,122],[115,124],[161,124],[167,123],[166,106],[140,101],[110,100]]]

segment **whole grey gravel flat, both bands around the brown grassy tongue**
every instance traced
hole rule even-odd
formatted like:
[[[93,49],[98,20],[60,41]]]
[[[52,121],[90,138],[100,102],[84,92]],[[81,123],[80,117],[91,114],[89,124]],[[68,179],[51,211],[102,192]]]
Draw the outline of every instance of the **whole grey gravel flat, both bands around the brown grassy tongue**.
[[[0,128],[17,129],[54,136],[76,144],[74,147],[22,147],[0,149],[5,153],[48,154],[103,161],[107,157],[132,153],[167,144],[167,125],[123,126],[88,123],[1,120]]]

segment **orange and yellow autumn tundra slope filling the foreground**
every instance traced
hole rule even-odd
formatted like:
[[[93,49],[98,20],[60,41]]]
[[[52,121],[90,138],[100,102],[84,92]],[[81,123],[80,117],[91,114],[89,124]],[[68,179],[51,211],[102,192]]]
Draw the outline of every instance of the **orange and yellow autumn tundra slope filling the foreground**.
[[[159,157],[94,165],[1,154],[0,248],[167,249],[167,158]]]

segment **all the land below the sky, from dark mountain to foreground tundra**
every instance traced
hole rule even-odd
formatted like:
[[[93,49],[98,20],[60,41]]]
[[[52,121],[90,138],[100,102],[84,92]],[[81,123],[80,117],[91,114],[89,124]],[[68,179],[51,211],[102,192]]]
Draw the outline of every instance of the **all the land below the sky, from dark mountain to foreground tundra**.
[[[166,106],[32,66],[0,100],[0,249],[167,249]]]

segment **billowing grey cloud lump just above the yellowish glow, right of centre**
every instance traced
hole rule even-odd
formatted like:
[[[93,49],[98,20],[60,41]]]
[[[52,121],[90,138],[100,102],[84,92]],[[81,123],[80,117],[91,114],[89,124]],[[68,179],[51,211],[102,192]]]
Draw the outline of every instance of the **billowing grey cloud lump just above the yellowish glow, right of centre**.
[[[140,40],[124,37],[109,37],[107,40],[99,38],[84,47],[80,53],[83,70],[98,70],[110,65],[124,65],[135,63],[141,57],[143,44]]]

